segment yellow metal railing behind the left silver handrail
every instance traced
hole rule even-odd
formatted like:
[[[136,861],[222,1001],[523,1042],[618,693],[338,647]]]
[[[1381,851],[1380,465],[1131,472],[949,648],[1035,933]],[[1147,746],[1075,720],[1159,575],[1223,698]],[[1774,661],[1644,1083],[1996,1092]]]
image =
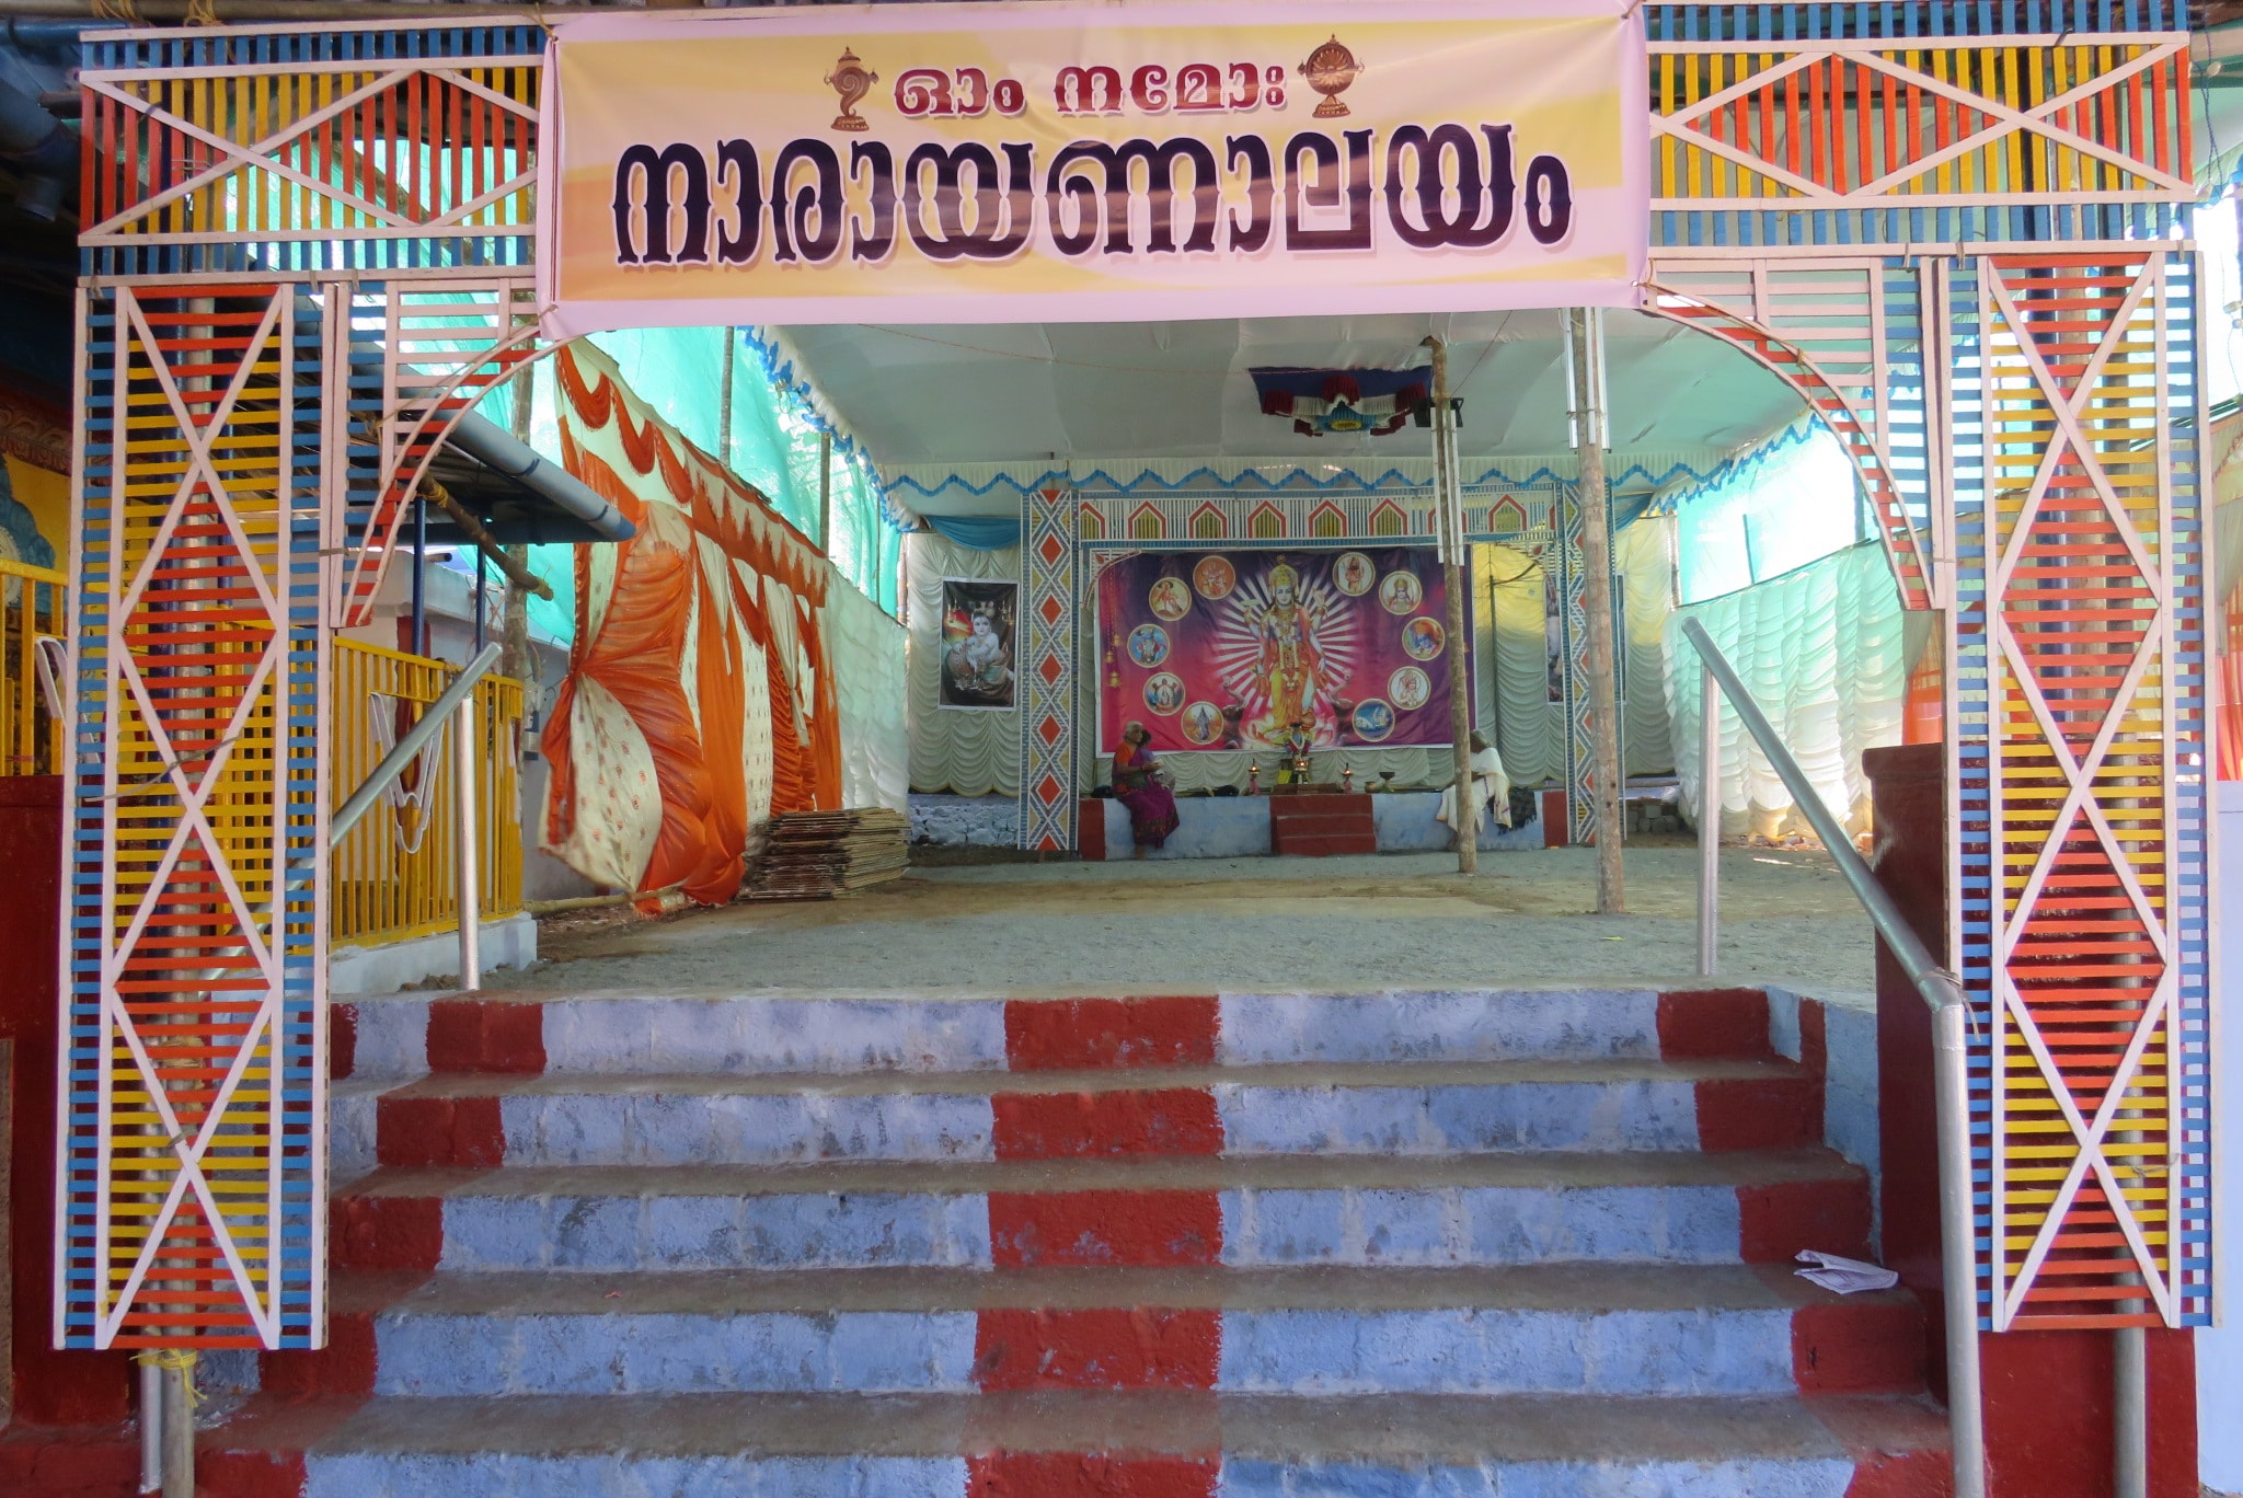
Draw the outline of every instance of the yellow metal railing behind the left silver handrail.
[[[357,789],[435,702],[453,666],[404,650],[336,641],[332,677],[330,805]],[[523,684],[476,686],[476,870],[482,919],[523,908],[520,740]],[[460,924],[460,798],[451,724],[334,848],[330,895],[336,942],[397,942]]]

